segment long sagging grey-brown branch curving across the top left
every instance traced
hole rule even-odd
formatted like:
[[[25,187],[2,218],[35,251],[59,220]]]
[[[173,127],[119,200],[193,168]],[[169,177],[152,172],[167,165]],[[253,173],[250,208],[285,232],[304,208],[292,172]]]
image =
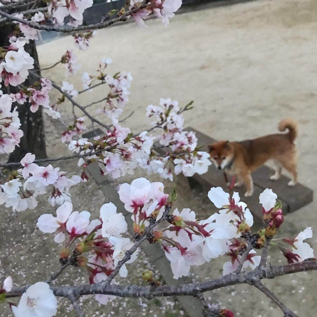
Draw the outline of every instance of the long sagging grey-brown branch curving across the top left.
[[[147,6],[147,4],[148,4],[148,0],[144,0],[137,8],[133,8],[131,10],[128,10],[124,14],[122,14],[121,16],[119,16],[120,13],[118,12],[112,19],[107,20],[105,22],[99,22],[96,24],[89,24],[89,25],[82,25],[82,26],[71,28],[71,29],[66,29],[66,28],[61,28],[61,27],[56,27],[56,26],[49,26],[49,25],[45,25],[45,24],[39,24],[39,23],[36,23],[33,21],[20,19],[16,16],[13,16],[11,14],[6,13],[2,10],[0,10],[0,15],[5,16],[10,21],[17,21],[20,23],[24,23],[24,24],[26,24],[29,27],[34,28],[34,29],[46,30],[46,31],[57,31],[57,32],[63,32],[63,33],[71,33],[71,32],[82,31],[82,30],[103,29],[103,28],[107,28],[108,26],[110,26],[114,23],[117,23],[120,21],[126,21],[128,16],[130,16],[133,13],[138,12],[139,10],[144,9]]]

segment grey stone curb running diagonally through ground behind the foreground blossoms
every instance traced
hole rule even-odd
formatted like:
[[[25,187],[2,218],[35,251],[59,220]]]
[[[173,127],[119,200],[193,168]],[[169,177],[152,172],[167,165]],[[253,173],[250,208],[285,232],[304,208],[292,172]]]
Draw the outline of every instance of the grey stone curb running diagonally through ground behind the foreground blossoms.
[[[122,202],[119,199],[118,192],[114,188],[113,184],[105,177],[100,175],[99,168],[95,164],[88,165],[89,173],[92,175],[100,190],[109,197],[109,200],[117,206],[118,212],[121,212],[128,224],[128,229],[133,232],[133,222],[131,219],[131,213],[124,209]],[[111,197],[111,198],[110,198]],[[146,256],[152,262],[152,264],[159,270],[164,281],[168,285],[181,285],[191,283],[191,279],[188,277],[182,277],[178,280],[173,278],[170,262],[165,257],[164,251],[159,244],[149,244],[146,241],[141,244],[141,248],[145,252]],[[187,314],[192,317],[203,316],[202,305],[200,301],[193,296],[176,296],[179,303],[182,305]]]

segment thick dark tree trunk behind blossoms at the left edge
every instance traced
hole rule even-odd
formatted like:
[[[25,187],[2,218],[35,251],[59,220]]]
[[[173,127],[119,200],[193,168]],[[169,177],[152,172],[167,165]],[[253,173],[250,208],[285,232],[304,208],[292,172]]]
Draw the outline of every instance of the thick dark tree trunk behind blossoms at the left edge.
[[[0,26],[0,46],[9,44],[8,35],[13,32],[14,27],[15,26],[12,24]],[[29,44],[25,44],[24,49],[34,58],[34,69],[39,69],[40,63],[37,56],[35,41],[30,40]],[[40,75],[40,72],[38,71],[37,74]],[[30,74],[23,85],[29,86],[35,81],[37,81],[37,79]],[[7,93],[16,93],[20,90],[18,87],[12,86],[2,87],[2,89],[4,91],[7,89]],[[13,107],[16,106],[18,107],[23,137],[21,138],[20,146],[16,146],[15,150],[10,154],[8,162],[18,162],[28,152],[35,154],[37,159],[46,158],[42,106],[39,107],[36,113],[31,112],[29,103],[24,103],[23,105],[14,103]]]

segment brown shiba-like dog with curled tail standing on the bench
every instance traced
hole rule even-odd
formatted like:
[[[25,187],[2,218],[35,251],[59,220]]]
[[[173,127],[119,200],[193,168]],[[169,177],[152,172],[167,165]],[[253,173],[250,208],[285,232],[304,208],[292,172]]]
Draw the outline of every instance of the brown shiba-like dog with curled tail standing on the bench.
[[[276,180],[281,175],[282,167],[292,174],[289,186],[297,181],[297,158],[294,140],[297,136],[297,124],[294,120],[284,119],[279,123],[279,131],[288,129],[288,133],[276,133],[241,142],[219,141],[208,146],[210,159],[219,170],[236,175],[236,187],[243,183],[247,187],[245,196],[253,193],[251,173],[269,159],[275,163],[275,174],[270,177]]]

